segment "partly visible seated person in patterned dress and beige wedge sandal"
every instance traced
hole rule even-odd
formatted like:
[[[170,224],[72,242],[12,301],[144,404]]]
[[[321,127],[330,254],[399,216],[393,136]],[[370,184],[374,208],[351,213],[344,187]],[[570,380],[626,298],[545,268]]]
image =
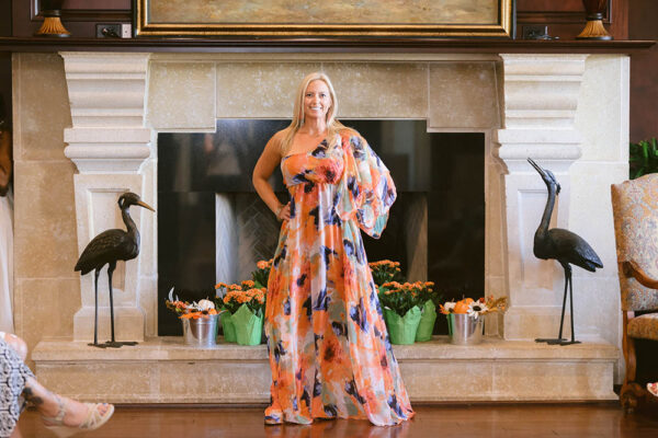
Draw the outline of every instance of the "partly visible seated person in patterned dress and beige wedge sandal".
[[[31,403],[47,428],[59,437],[101,427],[114,413],[105,403],[79,403],[41,385],[23,362],[27,347],[18,336],[0,332],[0,438],[20,438],[19,415]]]

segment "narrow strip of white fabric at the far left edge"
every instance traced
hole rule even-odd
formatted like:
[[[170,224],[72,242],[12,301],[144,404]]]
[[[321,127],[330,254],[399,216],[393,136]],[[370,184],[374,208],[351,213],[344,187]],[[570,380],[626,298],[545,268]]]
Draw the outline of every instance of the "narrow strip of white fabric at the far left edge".
[[[0,332],[13,325],[13,196],[0,196]]]

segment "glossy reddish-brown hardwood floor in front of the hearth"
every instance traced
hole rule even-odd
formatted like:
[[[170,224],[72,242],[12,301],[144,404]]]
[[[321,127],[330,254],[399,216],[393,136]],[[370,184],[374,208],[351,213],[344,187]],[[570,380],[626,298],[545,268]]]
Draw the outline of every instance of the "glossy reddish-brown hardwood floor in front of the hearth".
[[[266,438],[467,438],[467,437],[658,437],[658,413],[624,415],[616,403],[415,405],[416,417],[395,427],[364,420],[326,420],[310,426],[264,426],[263,407],[118,407],[103,428],[79,437]],[[49,437],[36,412],[19,426],[24,438]]]

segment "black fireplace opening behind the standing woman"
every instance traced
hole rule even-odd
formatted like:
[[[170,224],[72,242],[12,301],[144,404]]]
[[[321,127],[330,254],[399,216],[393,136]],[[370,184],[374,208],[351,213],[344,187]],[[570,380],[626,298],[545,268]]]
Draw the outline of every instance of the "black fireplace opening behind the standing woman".
[[[365,234],[371,262],[400,262],[409,281],[431,280],[443,299],[478,298],[485,284],[485,136],[427,132],[424,120],[343,119],[390,170],[398,198],[379,240]],[[251,173],[282,119],[219,119],[215,134],[158,136],[158,334],[181,335],[164,307],[214,297],[217,281],[250,279],[269,260],[280,222],[256,194]],[[272,186],[282,203],[281,173]],[[439,318],[434,334],[445,334]]]

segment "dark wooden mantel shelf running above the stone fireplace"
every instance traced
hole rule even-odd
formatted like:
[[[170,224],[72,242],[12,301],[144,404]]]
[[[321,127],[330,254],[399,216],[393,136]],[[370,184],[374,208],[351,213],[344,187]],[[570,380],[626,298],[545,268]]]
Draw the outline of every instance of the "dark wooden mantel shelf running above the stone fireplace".
[[[632,54],[655,41],[499,39],[499,38],[58,38],[0,37],[7,51],[149,51],[149,53],[526,53]]]

